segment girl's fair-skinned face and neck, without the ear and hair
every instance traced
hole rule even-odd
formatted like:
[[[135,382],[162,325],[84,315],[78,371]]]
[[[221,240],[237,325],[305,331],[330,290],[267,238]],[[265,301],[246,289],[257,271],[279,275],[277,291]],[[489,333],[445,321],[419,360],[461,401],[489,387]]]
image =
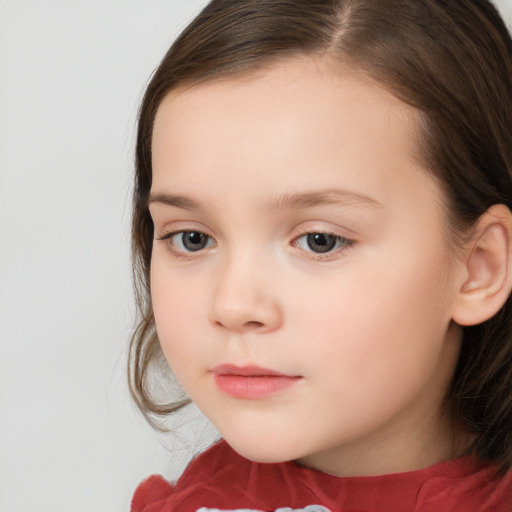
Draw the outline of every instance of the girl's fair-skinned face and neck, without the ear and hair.
[[[159,108],[157,331],[243,455],[334,474],[446,455],[456,272],[415,133],[410,107],[307,58]]]

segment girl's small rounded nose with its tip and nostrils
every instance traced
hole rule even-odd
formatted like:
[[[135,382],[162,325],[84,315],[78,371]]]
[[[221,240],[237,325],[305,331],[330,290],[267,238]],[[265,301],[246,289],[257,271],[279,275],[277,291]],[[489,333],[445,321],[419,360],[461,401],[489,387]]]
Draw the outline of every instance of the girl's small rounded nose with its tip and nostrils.
[[[226,262],[217,275],[210,321],[234,332],[270,332],[282,323],[271,271],[247,259]]]

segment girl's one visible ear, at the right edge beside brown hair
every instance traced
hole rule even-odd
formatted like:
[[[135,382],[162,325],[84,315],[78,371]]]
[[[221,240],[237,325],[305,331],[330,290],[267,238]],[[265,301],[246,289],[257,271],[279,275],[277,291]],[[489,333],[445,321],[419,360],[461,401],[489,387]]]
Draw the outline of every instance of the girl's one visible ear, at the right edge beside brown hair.
[[[477,325],[501,309],[512,289],[512,213],[506,206],[494,205],[480,217],[461,263],[452,318]]]

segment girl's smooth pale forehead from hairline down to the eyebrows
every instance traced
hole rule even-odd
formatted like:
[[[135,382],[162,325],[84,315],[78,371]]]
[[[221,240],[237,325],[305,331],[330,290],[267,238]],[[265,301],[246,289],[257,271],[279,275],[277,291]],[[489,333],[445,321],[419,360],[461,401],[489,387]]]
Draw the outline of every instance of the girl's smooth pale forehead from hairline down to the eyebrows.
[[[153,185],[208,183],[203,190],[214,193],[238,183],[250,194],[262,179],[284,192],[326,179],[325,187],[380,201],[392,182],[408,186],[406,168],[421,167],[417,120],[361,72],[327,58],[290,59],[169,93],[154,124]]]

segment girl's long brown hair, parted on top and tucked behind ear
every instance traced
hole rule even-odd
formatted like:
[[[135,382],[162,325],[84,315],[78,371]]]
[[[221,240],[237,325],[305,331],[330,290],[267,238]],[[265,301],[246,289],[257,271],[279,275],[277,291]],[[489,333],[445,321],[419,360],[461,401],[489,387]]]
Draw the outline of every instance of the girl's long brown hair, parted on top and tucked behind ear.
[[[155,71],[138,122],[132,249],[140,322],[129,383],[146,418],[187,403],[160,388],[170,374],[149,289],[148,212],[156,111],[178,86],[225,79],[296,55],[330,55],[421,113],[420,152],[442,184],[454,235],[492,205],[512,209],[512,40],[487,0],[213,0]],[[475,435],[481,459],[512,467],[512,304],[467,327],[447,410]],[[154,379],[155,371],[158,378]]]

